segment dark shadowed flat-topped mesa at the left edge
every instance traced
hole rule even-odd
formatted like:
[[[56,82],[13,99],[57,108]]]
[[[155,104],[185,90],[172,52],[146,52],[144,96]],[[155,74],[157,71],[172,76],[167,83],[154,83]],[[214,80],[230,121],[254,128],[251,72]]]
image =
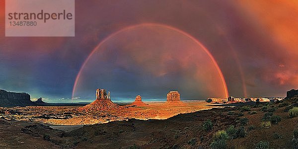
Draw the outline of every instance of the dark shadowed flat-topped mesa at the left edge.
[[[30,100],[30,95],[25,92],[9,92],[0,89],[0,106],[13,107],[13,106],[30,106],[35,103]]]

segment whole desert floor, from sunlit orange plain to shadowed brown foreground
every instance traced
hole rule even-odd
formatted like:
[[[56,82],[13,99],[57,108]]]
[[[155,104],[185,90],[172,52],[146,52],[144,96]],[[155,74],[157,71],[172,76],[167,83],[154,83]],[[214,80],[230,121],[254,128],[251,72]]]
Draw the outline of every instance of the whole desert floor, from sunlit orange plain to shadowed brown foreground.
[[[236,133],[242,133],[243,136],[228,139],[226,149],[255,149],[260,141],[268,142],[269,149],[295,149],[293,132],[298,129],[298,117],[290,117],[288,111],[298,105],[298,97],[275,103],[224,108],[208,106],[202,102],[187,103],[187,107],[164,107],[161,103],[154,104],[156,105],[152,107],[123,107],[126,110],[119,111],[117,116],[113,115],[116,111],[105,113],[110,114],[106,116],[110,121],[108,123],[102,121],[94,125],[51,127],[49,122],[52,122],[52,118],[69,120],[91,115],[94,116],[91,118],[93,121],[97,115],[79,114],[80,111],[77,112],[74,107],[35,107],[34,110],[29,107],[22,110],[13,108],[10,112],[15,113],[10,115],[19,115],[19,118],[28,120],[15,120],[13,116],[9,117],[7,112],[6,115],[2,114],[5,117],[0,118],[0,149],[210,149],[214,135],[230,126],[234,126],[236,130],[243,128],[243,132]],[[199,105],[208,110],[202,110]],[[28,116],[22,113],[25,109],[29,109],[27,113],[40,110],[43,117],[38,117],[40,120],[36,117],[27,118]],[[56,111],[53,112],[53,109]],[[45,111],[52,118],[46,119],[42,114]],[[63,113],[66,111],[69,112]],[[181,111],[185,113],[179,114]],[[268,113],[272,114],[269,119],[279,116],[280,121],[272,123],[270,128],[265,128],[261,124]],[[123,115],[140,119],[120,117]],[[170,118],[164,119],[166,116]],[[115,117],[115,121],[110,119],[112,117]],[[120,121],[120,118],[124,120]],[[207,120],[213,124],[210,130],[204,129]],[[37,123],[38,121],[43,123]]]

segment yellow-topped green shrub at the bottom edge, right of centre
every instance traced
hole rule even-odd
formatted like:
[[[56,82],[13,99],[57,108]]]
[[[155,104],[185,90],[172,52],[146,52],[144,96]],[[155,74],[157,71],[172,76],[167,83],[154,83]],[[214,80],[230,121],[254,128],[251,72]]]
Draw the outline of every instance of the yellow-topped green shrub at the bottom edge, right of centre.
[[[227,133],[222,130],[213,135],[213,142],[210,145],[211,149],[226,149],[226,141],[229,139]]]

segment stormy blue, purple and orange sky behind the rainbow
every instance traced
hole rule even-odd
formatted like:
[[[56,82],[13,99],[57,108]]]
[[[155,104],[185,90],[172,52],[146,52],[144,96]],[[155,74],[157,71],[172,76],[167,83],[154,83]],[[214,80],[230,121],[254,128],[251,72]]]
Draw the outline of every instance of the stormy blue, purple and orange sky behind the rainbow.
[[[75,0],[75,37],[5,37],[0,89],[47,102],[283,97],[298,88],[296,0]]]

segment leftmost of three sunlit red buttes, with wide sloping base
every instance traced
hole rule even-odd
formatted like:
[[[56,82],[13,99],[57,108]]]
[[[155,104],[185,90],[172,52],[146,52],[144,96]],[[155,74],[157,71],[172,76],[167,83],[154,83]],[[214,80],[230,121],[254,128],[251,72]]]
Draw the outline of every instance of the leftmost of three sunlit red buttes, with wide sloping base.
[[[121,107],[111,101],[110,92],[107,93],[105,89],[96,89],[96,99],[90,103],[81,107],[81,110],[98,110],[98,111],[108,111],[120,109]]]

